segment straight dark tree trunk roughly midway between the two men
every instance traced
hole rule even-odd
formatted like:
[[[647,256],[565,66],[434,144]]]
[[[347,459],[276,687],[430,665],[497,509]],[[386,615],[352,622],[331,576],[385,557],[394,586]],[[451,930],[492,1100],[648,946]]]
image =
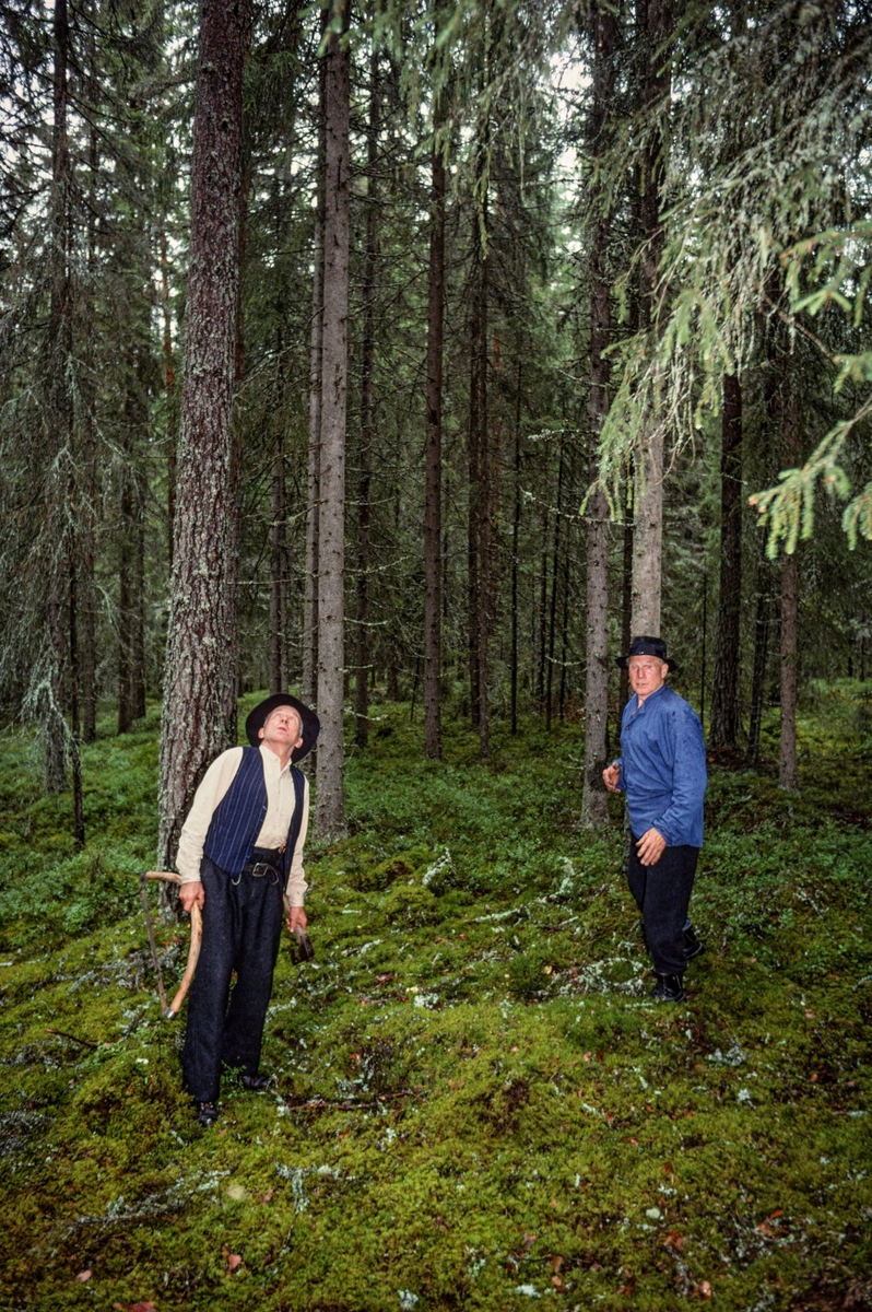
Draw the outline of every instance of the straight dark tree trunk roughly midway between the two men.
[[[445,318],[445,190],[442,148],[430,161],[427,283],[427,413],[424,493],[424,754],[442,758],[442,333]]]

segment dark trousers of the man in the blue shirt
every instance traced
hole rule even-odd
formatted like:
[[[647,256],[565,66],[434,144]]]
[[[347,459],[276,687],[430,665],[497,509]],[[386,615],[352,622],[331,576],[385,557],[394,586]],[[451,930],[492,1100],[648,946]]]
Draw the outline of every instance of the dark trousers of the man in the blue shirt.
[[[683,975],[687,966],[683,930],[699,848],[666,848],[656,866],[643,866],[637,842],[633,834],[627,883],[643,913],[652,963],[658,975]]]

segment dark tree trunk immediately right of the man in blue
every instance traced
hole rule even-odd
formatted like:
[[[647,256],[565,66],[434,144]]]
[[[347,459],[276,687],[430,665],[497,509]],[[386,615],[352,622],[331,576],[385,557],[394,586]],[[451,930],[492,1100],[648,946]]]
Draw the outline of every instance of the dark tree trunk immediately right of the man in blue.
[[[708,740],[736,747],[740,731],[740,611],[742,602],[742,384],[724,377],[721,424],[721,568],[715,685]]]

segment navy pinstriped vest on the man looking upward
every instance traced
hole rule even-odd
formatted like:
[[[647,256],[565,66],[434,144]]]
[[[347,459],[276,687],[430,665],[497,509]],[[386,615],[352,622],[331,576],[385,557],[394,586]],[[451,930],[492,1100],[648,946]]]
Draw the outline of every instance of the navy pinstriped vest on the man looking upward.
[[[290,869],[291,857],[303,823],[303,771],[291,766],[294,781],[294,815],[287,830],[287,844],[282,858],[281,874]],[[257,747],[244,747],[236,777],[215,807],[212,820],[203,844],[203,853],[214,861],[219,870],[228,875],[239,875],[252,859],[254,840],[261,832],[266,816],[266,783],[264,782],[264,758]]]

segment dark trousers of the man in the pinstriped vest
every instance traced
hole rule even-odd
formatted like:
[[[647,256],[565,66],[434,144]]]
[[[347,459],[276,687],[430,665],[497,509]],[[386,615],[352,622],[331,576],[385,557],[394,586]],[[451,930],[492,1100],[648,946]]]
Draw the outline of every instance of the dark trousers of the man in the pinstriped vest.
[[[206,892],[203,946],[188,997],[182,1078],[197,1102],[215,1102],[222,1065],[257,1075],[283,903],[281,883],[271,874],[260,879],[244,874],[233,883],[203,857],[201,879]]]

